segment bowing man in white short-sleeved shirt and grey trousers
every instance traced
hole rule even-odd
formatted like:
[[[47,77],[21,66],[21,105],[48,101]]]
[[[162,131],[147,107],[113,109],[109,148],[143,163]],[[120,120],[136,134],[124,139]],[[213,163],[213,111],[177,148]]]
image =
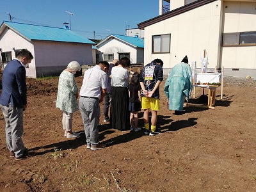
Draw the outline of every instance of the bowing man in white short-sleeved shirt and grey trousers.
[[[95,67],[84,72],[83,84],[80,90],[79,109],[84,124],[87,147],[99,150],[106,147],[99,142],[99,103],[104,100],[107,88],[109,63],[100,61]]]

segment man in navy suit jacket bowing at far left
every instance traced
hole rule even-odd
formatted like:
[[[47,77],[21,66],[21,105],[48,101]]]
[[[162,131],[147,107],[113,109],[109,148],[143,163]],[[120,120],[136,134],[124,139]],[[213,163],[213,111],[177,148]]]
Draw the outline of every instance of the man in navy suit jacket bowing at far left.
[[[26,159],[29,154],[22,141],[23,111],[27,107],[27,85],[25,67],[33,59],[26,49],[18,52],[17,57],[6,65],[3,71],[3,90],[0,107],[5,120],[5,134],[10,157],[15,160]]]

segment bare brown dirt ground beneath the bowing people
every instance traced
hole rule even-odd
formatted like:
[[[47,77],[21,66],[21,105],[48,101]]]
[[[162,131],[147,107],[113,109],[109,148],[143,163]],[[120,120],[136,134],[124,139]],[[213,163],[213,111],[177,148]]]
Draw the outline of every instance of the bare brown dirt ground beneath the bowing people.
[[[107,147],[97,151],[86,149],[79,111],[73,129],[81,136],[63,136],[55,107],[58,78],[27,79],[23,141],[36,156],[9,157],[1,114],[0,191],[256,191],[256,81],[225,79],[215,109],[188,106],[179,116],[167,109],[163,81],[157,120],[162,133],[117,131],[101,117],[99,136]],[[83,77],[76,81],[81,87]]]

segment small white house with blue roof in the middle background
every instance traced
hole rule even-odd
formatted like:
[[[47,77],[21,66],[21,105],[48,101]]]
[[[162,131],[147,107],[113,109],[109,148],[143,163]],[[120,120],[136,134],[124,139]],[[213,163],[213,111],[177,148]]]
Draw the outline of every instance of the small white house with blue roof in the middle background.
[[[111,62],[127,57],[134,64],[144,61],[144,40],[137,36],[110,35],[95,46],[99,60]]]

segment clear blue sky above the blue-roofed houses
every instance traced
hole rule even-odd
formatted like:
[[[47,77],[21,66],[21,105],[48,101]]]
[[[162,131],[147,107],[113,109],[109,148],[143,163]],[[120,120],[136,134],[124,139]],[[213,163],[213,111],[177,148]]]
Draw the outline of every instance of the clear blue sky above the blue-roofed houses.
[[[65,12],[74,13],[73,16]],[[158,0],[1,0],[0,22],[9,20],[54,27],[70,22],[71,29],[86,38],[125,35],[125,28],[159,15]],[[69,26],[69,24],[68,24]],[[93,33],[95,31],[95,35]]]

